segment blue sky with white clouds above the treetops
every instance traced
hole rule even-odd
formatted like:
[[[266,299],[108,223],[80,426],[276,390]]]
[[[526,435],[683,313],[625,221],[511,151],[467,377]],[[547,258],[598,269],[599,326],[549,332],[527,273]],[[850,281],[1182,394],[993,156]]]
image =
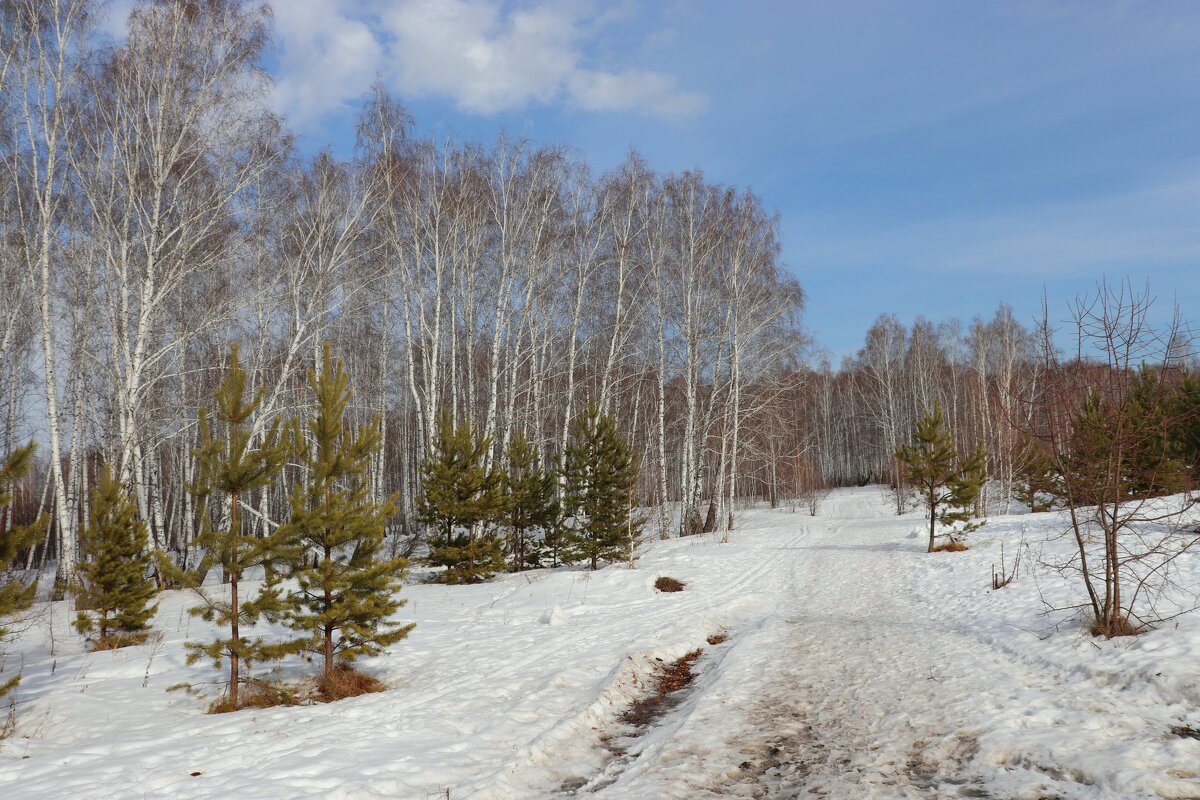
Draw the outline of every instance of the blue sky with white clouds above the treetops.
[[[124,5],[124,4],[122,4]],[[1200,317],[1200,4],[277,0],[275,103],[348,152],[376,76],[419,134],[636,148],[781,215],[830,353],[881,312],[1030,320],[1102,276]]]

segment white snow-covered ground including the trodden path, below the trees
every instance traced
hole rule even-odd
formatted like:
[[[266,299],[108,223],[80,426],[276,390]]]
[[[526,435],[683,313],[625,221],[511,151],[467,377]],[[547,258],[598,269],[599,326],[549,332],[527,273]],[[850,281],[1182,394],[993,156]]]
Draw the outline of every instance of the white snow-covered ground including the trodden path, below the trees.
[[[990,590],[1001,542],[1030,566],[1064,547],[1054,515],[934,555],[918,517],[846,489],[817,517],[745,512],[727,543],[655,542],[637,570],[409,585],[416,628],[362,663],[390,691],[329,705],[214,716],[167,692],[216,691],[184,661],[206,630],[186,594],[162,597],[161,643],[114,652],[44,609],[6,646],[25,679],[0,798],[1200,798],[1200,740],[1172,733],[1200,728],[1200,614],[1093,639],[1045,614],[1076,599],[1050,570]],[[1200,553],[1181,567],[1200,587]],[[655,667],[696,648],[680,702],[622,738]]]

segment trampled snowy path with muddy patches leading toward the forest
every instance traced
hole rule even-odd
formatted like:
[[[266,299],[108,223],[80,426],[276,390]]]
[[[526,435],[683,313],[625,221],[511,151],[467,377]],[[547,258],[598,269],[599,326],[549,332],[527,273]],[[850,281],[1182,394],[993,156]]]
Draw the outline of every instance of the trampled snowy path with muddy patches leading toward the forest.
[[[602,796],[1200,798],[1200,742],[1168,734],[1172,712],[1196,714],[1194,678],[1188,702],[1147,693],[1145,666],[1056,663],[986,619],[988,571],[947,579],[986,561],[923,553],[911,518],[862,493],[822,516],[780,548],[790,601]]]

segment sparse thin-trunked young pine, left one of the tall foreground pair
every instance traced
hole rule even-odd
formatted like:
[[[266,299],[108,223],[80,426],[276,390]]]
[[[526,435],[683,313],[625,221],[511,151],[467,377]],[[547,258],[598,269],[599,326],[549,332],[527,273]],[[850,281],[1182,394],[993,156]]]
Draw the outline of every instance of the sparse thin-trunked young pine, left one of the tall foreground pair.
[[[196,543],[205,551],[198,575],[179,576],[200,596],[202,604],[191,613],[206,621],[228,627],[228,636],[218,636],[212,642],[188,642],[188,660],[203,656],[212,658],[214,666],[229,661],[229,696],[221,708],[238,709],[242,668],[248,673],[254,663],[281,658],[300,649],[298,643],[270,643],[262,637],[253,639],[242,634],[242,628],[260,618],[277,618],[282,610],[282,595],[277,585],[268,582],[253,600],[241,596],[241,581],[247,570],[264,567],[268,576],[275,575],[274,565],[284,557],[283,540],[278,533],[258,537],[242,524],[241,499],[252,492],[271,486],[280,474],[288,449],[280,438],[278,425],[272,425],[262,437],[254,437],[251,419],[263,399],[259,390],[253,397],[246,395],[246,371],[238,362],[236,345],[229,353],[229,372],[217,387],[216,431],[211,429],[204,409],[199,417],[199,449],[197,450],[198,476],[192,487],[202,515],[202,529]],[[209,505],[223,504],[222,518],[227,527],[214,527]],[[199,585],[208,569],[218,566],[224,572],[229,595],[215,597]]]

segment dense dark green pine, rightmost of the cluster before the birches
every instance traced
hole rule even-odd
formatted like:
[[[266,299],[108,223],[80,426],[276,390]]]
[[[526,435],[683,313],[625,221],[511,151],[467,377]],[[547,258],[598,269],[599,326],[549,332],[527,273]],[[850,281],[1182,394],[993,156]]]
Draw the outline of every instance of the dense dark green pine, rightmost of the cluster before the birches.
[[[571,426],[564,477],[563,511],[572,518],[568,558],[588,561],[593,570],[600,561],[632,561],[642,525],[631,507],[637,463],[595,401]]]

